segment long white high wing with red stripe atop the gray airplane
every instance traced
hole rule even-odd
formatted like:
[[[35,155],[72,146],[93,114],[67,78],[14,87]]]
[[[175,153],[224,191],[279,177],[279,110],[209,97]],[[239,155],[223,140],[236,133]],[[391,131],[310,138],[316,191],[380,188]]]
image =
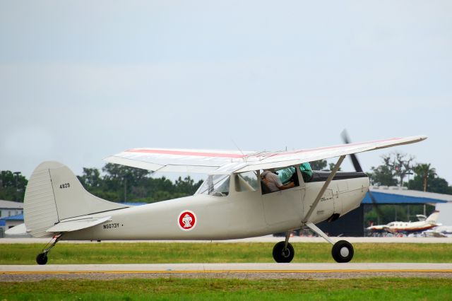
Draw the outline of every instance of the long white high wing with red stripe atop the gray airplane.
[[[247,172],[299,165],[340,155],[374,151],[423,141],[427,136],[391,138],[297,151],[213,151],[191,149],[134,148],[105,158],[109,163],[161,172],[201,172],[220,174]]]

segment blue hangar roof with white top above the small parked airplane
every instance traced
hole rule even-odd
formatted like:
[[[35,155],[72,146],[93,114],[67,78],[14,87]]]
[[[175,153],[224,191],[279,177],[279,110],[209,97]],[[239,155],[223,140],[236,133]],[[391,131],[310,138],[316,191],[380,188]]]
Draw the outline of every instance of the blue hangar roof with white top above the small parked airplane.
[[[391,188],[391,187],[390,187]],[[432,192],[388,189],[388,187],[371,188],[372,196],[376,199],[376,203],[385,204],[410,204],[410,203],[447,203],[452,201],[452,195],[434,194]],[[372,203],[369,192],[364,196],[362,203]]]

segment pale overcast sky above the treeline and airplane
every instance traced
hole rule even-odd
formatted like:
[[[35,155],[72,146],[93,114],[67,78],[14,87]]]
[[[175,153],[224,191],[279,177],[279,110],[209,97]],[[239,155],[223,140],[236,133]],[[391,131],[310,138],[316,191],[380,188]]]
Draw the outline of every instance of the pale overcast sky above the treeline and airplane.
[[[313,148],[347,128],[429,136],[393,150],[452,184],[451,16],[451,1],[0,0],[0,170]],[[364,170],[389,151],[359,155]]]

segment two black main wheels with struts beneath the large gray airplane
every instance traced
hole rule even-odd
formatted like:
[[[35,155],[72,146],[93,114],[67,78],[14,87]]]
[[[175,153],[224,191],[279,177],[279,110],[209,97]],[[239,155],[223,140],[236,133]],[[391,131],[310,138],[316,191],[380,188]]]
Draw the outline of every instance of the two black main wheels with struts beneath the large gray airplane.
[[[331,255],[336,262],[343,263],[352,260],[353,254],[355,252],[350,242],[347,242],[346,240],[333,242],[330,237],[328,237],[322,230],[317,228],[317,226],[313,223],[307,223],[306,225],[318,235],[323,237],[327,242],[333,244]],[[294,247],[292,247],[292,244],[289,243],[290,232],[291,231],[286,232],[285,241],[278,242],[277,244],[275,244],[275,247],[273,247],[273,259],[275,259],[276,262],[290,262],[294,258]]]

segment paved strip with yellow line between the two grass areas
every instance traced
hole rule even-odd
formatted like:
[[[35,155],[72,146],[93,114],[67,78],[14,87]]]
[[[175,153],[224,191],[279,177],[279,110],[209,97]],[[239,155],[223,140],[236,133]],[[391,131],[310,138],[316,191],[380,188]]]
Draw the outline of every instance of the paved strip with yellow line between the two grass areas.
[[[48,278],[452,278],[452,264],[68,264],[0,266],[0,281]]]

